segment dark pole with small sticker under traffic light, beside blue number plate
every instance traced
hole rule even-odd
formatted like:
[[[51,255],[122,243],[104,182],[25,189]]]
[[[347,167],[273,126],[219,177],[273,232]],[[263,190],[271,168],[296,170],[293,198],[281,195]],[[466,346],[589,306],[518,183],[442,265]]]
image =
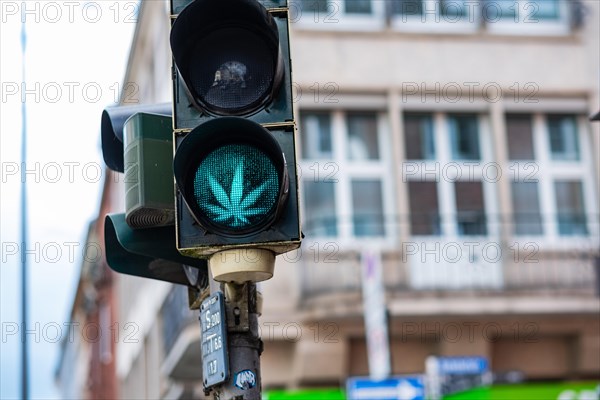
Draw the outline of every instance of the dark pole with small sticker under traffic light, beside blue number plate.
[[[227,321],[229,377],[216,386],[215,400],[260,400],[260,354],[263,343],[258,331],[256,283],[223,283],[211,279],[211,295],[223,289]]]

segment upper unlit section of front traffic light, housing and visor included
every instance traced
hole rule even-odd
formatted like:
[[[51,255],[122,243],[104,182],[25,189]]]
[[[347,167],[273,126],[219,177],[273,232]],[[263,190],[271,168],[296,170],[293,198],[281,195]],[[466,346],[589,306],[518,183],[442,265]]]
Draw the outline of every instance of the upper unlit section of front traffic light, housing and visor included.
[[[171,5],[175,130],[226,115],[293,125],[287,1]]]

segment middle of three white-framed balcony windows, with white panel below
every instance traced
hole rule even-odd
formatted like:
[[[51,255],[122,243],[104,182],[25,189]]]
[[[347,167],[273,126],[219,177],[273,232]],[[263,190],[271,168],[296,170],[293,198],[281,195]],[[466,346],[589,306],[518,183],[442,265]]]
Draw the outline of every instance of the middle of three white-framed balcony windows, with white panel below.
[[[488,257],[491,253],[469,248],[500,243],[498,171],[487,169],[496,164],[489,117],[407,111],[403,122],[402,182],[409,215],[401,221],[413,236],[405,242],[409,285],[501,288],[503,264]]]

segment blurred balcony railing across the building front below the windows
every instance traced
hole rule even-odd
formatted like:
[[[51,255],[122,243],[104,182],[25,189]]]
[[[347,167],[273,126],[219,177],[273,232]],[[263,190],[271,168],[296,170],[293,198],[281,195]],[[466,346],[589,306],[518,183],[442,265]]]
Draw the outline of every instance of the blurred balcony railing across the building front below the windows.
[[[549,221],[557,221],[545,220],[534,221],[536,230],[541,224],[543,232],[548,232]],[[487,224],[487,229],[477,230],[488,232],[486,235],[462,231],[452,236],[439,235],[435,229],[435,235],[396,238],[395,246],[380,249],[384,285],[388,292],[399,296],[445,296],[457,292],[475,292],[478,296],[597,296],[598,216],[588,215],[584,220],[586,229],[568,230],[569,234],[552,222],[554,235],[519,235],[524,229],[523,221],[489,218],[481,222]],[[404,221],[411,224],[410,218]],[[580,219],[577,221],[581,225]],[[389,227],[389,221],[386,224]],[[347,245],[341,239],[311,237],[311,232],[306,232],[306,237],[302,257],[296,260],[300,264],[302,299],[361,290],[361,259],[356,241]],[[382,241],[389,243],[388,238]],[[371,246],[376,241],[368,243]],[[321,251],[312,251],[316,248]]]

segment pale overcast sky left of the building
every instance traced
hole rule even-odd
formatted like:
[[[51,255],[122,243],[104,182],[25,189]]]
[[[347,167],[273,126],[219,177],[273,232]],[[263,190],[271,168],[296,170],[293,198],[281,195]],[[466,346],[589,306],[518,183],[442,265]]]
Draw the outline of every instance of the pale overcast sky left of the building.
[[[0,1],[0,398],[20,397],[20,265],[29,260],[30,394],[59,398],[60,340],[68,334],[87,227],[103,180],[102,109],[123,85],[138,3]],[[26,19],[26,82],[21,19]],[[27,103],[29,238],[20,242],[21,104]],[[57,327],[62,327],[59,331]],[[19,332],[20,333],[20,332]]]

